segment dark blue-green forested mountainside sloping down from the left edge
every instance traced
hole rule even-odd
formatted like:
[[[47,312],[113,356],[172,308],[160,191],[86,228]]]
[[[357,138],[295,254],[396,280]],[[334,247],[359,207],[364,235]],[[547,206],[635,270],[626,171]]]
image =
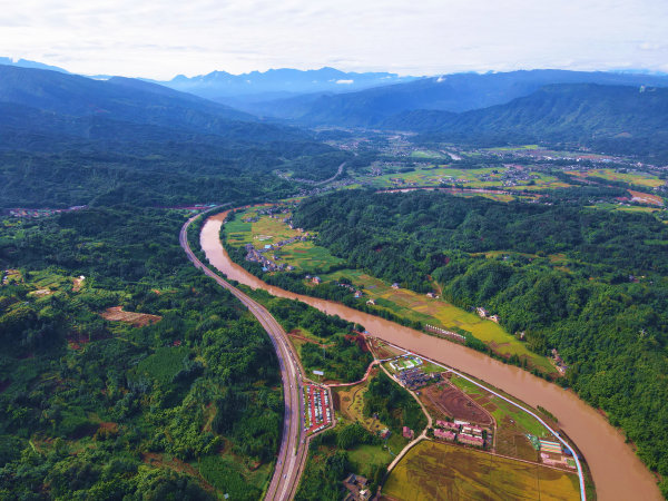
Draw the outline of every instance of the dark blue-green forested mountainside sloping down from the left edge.
[[[274,169],[332,151],[155,84],[0,66],[0,208],[286,196]]]

